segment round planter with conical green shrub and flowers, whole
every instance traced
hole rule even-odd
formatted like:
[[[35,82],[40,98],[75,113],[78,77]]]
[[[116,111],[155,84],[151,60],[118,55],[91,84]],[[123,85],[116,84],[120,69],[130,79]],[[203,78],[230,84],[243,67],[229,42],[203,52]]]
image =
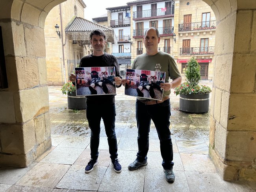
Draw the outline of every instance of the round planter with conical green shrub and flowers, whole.
[[[198,85],[201,79],[200,65],[192,57],[187,63],[186,82],[174,89],[174,94],[180,95],[180,110],[189,113],[205,113],[209,110],[211,88]]]

